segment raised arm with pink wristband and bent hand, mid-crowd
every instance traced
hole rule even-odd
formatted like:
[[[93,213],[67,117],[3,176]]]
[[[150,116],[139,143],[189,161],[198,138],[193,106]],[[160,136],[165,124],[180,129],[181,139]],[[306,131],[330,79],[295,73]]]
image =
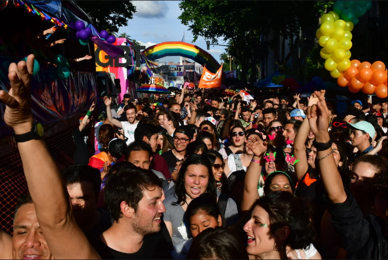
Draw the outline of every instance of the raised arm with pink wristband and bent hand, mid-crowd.
[[[267,150],[267,143],[254,135],[249,136],[245,143],[245,145],[253,151],[254,155],[245,174],[241,211],[248,210],[255,200],[259,198],[257,185],[260,180],[261,167],[264,163],[263,154]]]

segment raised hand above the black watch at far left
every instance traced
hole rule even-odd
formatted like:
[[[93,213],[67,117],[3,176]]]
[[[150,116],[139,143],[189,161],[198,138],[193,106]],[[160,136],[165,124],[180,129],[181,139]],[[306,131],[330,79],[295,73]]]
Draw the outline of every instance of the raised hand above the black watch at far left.
[[[6,104],[4,121],[14,128],[17,134],[30,131],[34,123],[30,89],[34,59],[35,56],[30,54],[27,57],[27,63],[24,60],[19,61],[18,64],[11,63],[8,73],[11,89],[8,93],[0,90],[0,100]]]

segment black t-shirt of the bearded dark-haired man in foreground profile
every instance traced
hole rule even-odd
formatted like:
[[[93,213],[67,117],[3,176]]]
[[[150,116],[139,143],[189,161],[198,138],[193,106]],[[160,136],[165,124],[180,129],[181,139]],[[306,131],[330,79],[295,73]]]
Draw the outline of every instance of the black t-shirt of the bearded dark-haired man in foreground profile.
[[[166,241],[162,232],[145,235],[142,246],[135,253],[116,251],[103,243],[99,236],[91,244],[102,259],[172,259],[172,244]]]

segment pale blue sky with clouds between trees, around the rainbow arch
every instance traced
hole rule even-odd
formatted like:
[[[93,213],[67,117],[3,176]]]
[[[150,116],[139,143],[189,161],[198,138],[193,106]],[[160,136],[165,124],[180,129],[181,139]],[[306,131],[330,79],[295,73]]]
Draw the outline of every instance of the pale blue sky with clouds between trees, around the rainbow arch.
[[[136,13],[133,19],[129,20],[127,26],[119,28],[120,33],[127,33],[131,38],[136,39],[142,45],[151,45],[164,41],[181,41],[185,32],[185,42],[195,44],[208,51],[213,57],[220,61],[219,55],[225,51],[224,46],[212,46],[206,49],[206,40],[202,37],[193,43],[193,35],[189,27],[182,24],[178,16],[182,13],[178,3],[180,1],[132,1],[136,6]],[[225,44],[219,39],[219,44]],[[179,56],[167,56],[159,61],[179,62]]]

